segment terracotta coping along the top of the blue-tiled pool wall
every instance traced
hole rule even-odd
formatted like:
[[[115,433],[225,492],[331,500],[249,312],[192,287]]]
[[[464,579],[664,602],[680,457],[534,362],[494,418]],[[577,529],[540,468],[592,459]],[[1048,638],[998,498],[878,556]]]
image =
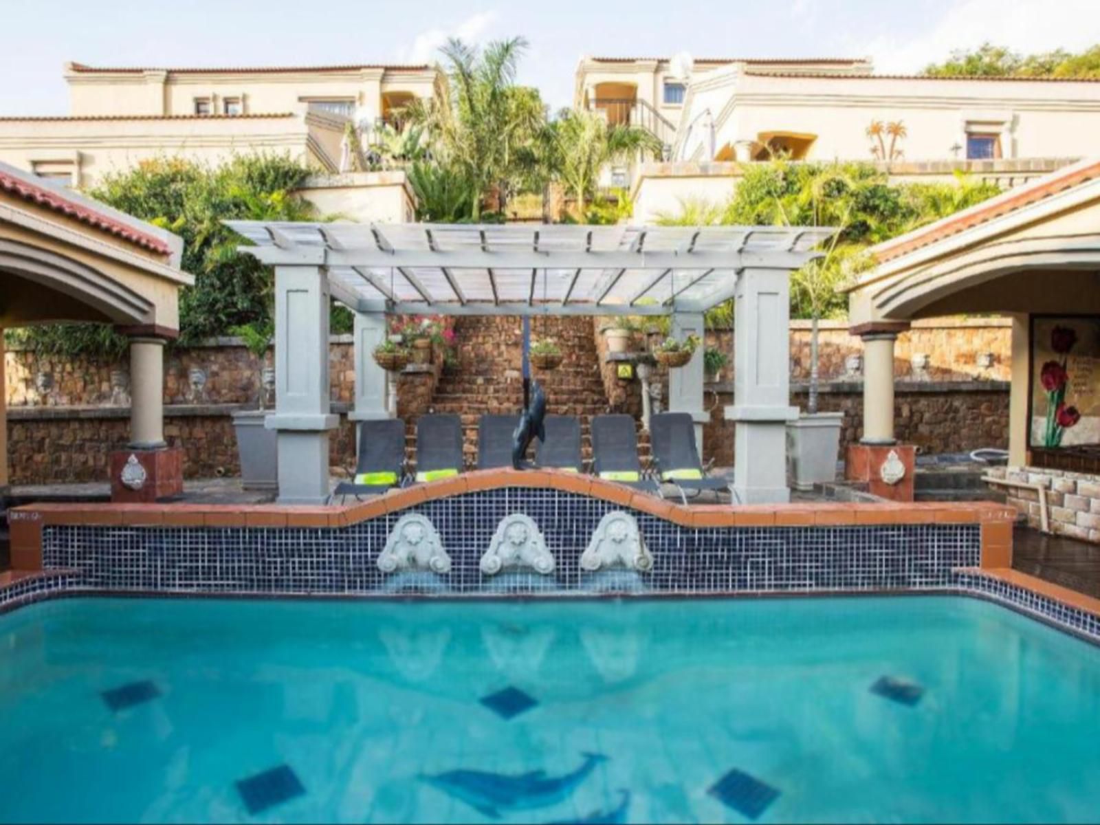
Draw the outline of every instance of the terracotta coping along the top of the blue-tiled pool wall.
[[[365,502],[327,506],[30,504],[9,513],[11,563],[15,571],[42,569],[42,527],[45,525],[341,528],[438,498],[508,487],[549,488],[592,496],[686,528],[979,524],[981,566],[1008,568],[1012,563],[1012,522],[1016,514],[1012,507],[993,502],[684,506],[595,476],[550,470],[480,470],[393,490]]]

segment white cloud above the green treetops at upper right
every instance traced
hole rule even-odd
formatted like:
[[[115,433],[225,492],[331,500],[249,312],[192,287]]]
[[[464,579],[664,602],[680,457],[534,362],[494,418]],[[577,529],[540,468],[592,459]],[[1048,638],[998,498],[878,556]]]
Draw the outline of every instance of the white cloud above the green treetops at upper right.
[[[1098,7],[1097,0],[961,0],[930,30],[878,37],[867,51],[882,73],[916,72],[986,42],[1026,54],[1079,51],[1100,41]]]

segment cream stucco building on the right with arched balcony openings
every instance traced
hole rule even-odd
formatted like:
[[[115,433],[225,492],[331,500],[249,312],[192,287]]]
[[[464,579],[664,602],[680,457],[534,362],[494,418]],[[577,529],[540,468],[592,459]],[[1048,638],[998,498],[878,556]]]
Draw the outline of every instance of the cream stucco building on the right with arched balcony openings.
[[[865,59],[586,57],[574,102],[664,144],[661,161],[606,180],[630,187],[644,223],[689,198],[725,200],[744,164],[773,152],[875,162],[903,179],[963,170],[1011,188],[1093,152],[1100,125],[1096,80],[887,76]]]

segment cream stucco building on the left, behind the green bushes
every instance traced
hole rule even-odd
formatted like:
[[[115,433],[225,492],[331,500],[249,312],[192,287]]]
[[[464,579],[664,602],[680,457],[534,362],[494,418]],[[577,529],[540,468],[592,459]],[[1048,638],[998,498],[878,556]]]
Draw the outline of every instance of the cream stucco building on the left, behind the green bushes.
[[[69,113],[0,118],[0,161],[76,187],[162,156],[218,164],[272,152],[318,172],[305,195],[327,213],[411,219],[399,172],[349,172],[345,131],[364,143],[417,98],[437,95],[427,65],[264,68],[65,66]]]

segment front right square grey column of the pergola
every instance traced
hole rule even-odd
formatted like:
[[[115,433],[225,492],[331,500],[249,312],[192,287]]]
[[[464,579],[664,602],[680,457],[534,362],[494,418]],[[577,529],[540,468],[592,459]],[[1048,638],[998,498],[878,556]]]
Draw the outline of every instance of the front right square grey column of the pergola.
[[[744,270],[734,304],[734,495],[739,504],[791,499],[787,422],[791,406],[790,284],[783,270]]]

